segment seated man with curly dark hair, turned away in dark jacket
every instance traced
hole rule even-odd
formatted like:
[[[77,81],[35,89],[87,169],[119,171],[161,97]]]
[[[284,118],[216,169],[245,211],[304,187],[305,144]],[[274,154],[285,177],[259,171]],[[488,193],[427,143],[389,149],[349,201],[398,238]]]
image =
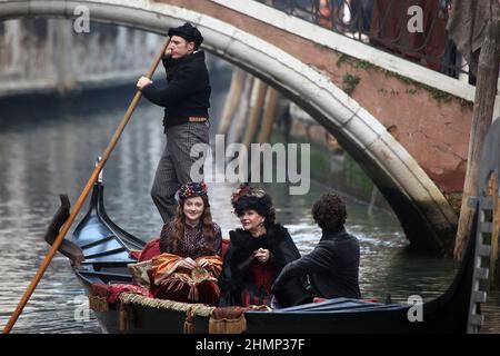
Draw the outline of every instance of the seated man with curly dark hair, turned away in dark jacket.
[[[349,235],[346,204],[332,192],[321,196],[312,207],[312,217],[322,229],[314,249],[288,264],[274,280],[272,290],[279,290],[291,278],[309,275],[314,296],[322,298],[360,298],[358,284],[359,243]]]

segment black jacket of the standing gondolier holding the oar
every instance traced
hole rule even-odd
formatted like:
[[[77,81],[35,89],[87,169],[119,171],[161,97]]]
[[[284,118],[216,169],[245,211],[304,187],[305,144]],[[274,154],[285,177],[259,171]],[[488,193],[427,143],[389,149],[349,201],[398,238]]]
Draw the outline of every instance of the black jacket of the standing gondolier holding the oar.
[[[153,82],[142,88],[142,95],[164,107],[163,126],[188,122],[189,117],[208,118],[211,87],[204,52],[200,50],[177,60],[163,57],[162,61],[167,87]]]

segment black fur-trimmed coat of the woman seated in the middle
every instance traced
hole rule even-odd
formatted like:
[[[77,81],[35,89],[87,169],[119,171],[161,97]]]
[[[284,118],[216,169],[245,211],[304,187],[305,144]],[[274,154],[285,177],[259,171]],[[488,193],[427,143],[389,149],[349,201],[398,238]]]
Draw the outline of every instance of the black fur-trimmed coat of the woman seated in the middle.
[[[224,256],[220,278],[221,306],[242,305],[241,294],[254,283],[251,273],[252,253],[260,247],[269,249],[276,278],[288,264],[300,258],[300,253],[288,230],[281,225],[267,228],[267,234],[252,237],[250,233],[237,229],[229,233],[230,245]]]

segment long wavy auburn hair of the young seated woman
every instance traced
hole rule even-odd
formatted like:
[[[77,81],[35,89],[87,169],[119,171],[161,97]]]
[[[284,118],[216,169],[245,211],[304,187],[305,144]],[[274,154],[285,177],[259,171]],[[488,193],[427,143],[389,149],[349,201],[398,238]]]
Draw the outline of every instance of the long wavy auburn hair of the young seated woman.
[[[212,214],[210,212],[210,205],[207,197],[200,198],[203,200],[204,205],[203,212],[200,217],[202,222],[204,246],[210,254],[216,254],[216,238],[213,234],[213,221]],[[179,205],[176,210],[176,217],[173,218],[173,231],[170,236],[171,247],[173,251],[177,251],[180,241],[184,239],[184,202],[188,199],[179,200]]]

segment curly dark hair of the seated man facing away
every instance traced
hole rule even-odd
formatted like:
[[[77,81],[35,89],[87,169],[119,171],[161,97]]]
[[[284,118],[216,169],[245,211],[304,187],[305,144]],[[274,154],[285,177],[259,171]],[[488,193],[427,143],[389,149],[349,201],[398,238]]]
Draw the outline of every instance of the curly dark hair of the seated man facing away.
[[[312,217],[323,230],[341,230],[347,218],[346,202],[333,192],[323,194],[312,206]]]

